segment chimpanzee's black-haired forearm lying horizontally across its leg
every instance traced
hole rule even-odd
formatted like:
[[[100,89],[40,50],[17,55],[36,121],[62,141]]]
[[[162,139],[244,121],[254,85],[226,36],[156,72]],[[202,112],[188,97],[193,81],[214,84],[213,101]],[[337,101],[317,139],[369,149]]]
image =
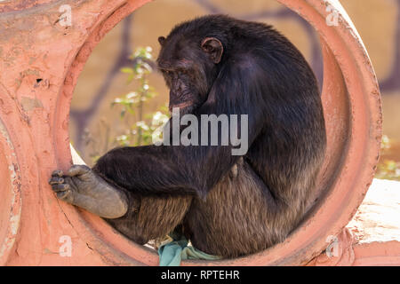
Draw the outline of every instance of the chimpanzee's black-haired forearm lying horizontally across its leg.
[[[102,156],[93,170],[133,193],[204,196],[237,160],[228,146],[212,147],[116,148]]]

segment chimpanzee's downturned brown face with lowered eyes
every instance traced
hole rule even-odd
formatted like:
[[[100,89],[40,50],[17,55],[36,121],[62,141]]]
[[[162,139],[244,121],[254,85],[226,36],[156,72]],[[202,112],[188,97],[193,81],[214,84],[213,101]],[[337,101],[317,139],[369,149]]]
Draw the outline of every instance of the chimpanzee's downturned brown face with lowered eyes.
[[[199,43],[181,37],[158,40],[162,48],[157,65],[170,89],[170,111],[179,107],[181,112],[191,113],[207,99],[216,64]]]

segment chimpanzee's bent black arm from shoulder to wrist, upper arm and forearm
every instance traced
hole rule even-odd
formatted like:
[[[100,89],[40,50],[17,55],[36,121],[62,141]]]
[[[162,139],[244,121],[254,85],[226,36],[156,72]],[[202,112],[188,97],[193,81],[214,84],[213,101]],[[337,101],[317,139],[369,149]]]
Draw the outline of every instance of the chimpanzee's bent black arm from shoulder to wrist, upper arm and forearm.
[[[239,62],[236,66],[240,64]],[[248,115],[248,146],[262,127],[262,94],[257,67],[226,66],[220,72],[212,91],[195,115]],[[229,117],[229,116],[228,116]],[[210,130],[210,128],[209,128]],[[220,129],[219,129],[220,130]],[[203,135],[199,133],[199,141]],[[220,132],[217,134],[220,136]],[[199,142],[200,144],[200,142]],[[199,194],[205,196],[240,156],[232,154],[233,146],[139,146],[116,148],[100,158],[93,170],[128,191],[140,194]]]

